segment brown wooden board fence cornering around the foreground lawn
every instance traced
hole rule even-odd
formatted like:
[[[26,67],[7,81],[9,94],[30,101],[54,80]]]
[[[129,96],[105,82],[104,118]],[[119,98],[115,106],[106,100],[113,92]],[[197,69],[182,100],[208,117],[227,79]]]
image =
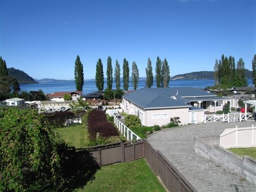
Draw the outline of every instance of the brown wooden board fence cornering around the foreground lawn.
[[[154,150],[147,140],[111,143],[88,148],[70,148],[70,150],[79,154],[76,158],[81,159],[81,156],[87,156],[84,157],[86,159],[84,162],[88,162],[88,156],[90,156],[89,160],[93,159],[93,162],[99,166],[145,158],[168,191],[196,191],[175,166],[159,150]]]

